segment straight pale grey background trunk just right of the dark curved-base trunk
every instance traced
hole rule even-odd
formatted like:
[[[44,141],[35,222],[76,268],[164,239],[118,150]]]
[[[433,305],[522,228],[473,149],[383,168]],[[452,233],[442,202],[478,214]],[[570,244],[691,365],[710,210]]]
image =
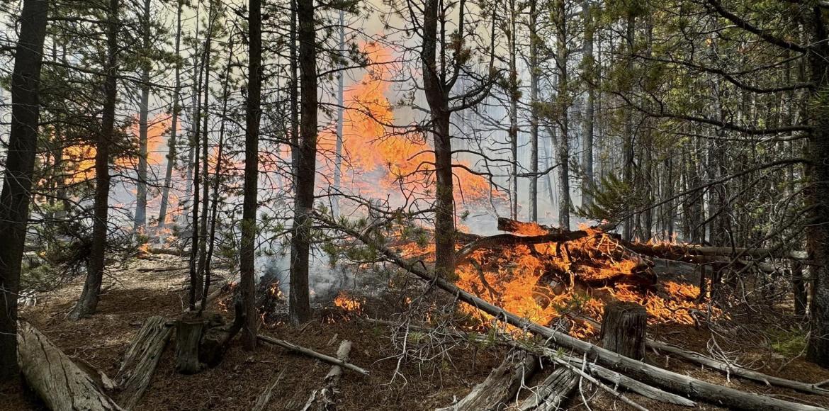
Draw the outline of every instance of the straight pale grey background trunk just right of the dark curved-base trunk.
[[[143,53],[150,49],[150,0],[144,0],[142,23]],[[143,62],[141,68],[141,103],[138,109],[138,178],[135,187],[135,221],[134,230],[138,234],[145,234],[147,228],[147,133],[150,104],[150,65]]]

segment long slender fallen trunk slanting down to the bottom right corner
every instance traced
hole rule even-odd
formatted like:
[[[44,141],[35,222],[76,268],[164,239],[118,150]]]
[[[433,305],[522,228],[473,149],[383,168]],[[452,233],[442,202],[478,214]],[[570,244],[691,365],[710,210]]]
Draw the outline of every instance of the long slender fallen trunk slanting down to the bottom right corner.
[[[314,215],[316,218],[320,220],[325,220],[327,224],[332,225],[333,227],[337,227],[337,230],[341,230],[347,235],[351,235],[356,239],[360,239],[361,242],[365,244],[375,245],[377,251],[380,254],[382,254],[382,256],[386,260],[400,266],[400,268],[403,268],[410,273],[413,273],[419,278],[422,278],[425,281],[436,285],[438,288],[441,288],[445,292],[452,294],[459,300],[466,302],[469,305],[472,305],[473,307],[477,307],[482,312],[486,312],[487,314],[492,315],[492,317],[497,318],[498,321],[507,322],[507,324],[510,324],[511,326],[526,329],[527,331],[530,331],[533,334],[536,334],[537,336],[541,336],[542,338],[549,340],[550,343],[553,343],[555,345],[562,346],[566,349],[577,351],[579,353],[587,354],[590,358],[594,359],[600,365],[604,365],[605,367],[611,370],[616,370],[620,373],[628,374],[628,376],[632,376],[637,380],[647,381],[648,383],[652,385],[657,385],[658,387],[662,387],[663,389],[669,389],[677,393],[684,394],[691,398],[710,401],[712,403],[724,405],[725,407],[729,407],[732,409],[768,411],[824,410],[820,407],[814,407],[812,405],[797,404],[790,401],[785,401],[783,399],[776,399],[764,395],[746,393],[743,391],[739,391],[738,389],[731,389],[717,384],[711,384],[706,381],[697,380],[687,375],[677,374],[670,370],[663,370],[654,365],[649,365],[643,363],[642,361],[633,360],[623,355],[618,355],[613,351],[604,350],[604,348],[594,346],[593,344],[590,344],[587,341],[581,341],[578,338],[575,338],[573,336],[567,335],[559,331],[552,330],[546,326],[541,326],[541,324],[528,321],[526,320],[526,318],[519,317],[512,312],[507,312],[501,307],[497,307],[483,300],[482,298],[473,295],[472,293],[468,293],[458,288],[453,283],[450,283],[445,278],[435,277],[432,273],[429,273],[427,270],[421,268],[421,266],[423,266],[423,263],[403,259],[394,251],[391,251],[390,249],[386,249],[385,247],[376,244],[376,241],[373,241],[367,235],[361,234],[356,230],[352,230],[348,227],[337,225],[335,222],[328,220],[325,216],[320,215],[319,213],[314,213]]]

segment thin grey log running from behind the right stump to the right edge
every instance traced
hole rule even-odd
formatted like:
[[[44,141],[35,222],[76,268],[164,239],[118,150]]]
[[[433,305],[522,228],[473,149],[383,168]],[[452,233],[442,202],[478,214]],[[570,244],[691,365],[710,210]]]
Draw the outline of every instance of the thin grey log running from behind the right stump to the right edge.
[[[589,322],[597,330],[601,330],[602,326],[594,320],[586,317],[578,317],[579,321]],[[739,365],[731,365],[725,361],[715,360],[708,355],[700,354],[696,351],[686,350],[678,346],[672,346],[667,342],[656,341],[650,338],[645,340],[645,346],[652,350],[662,351],[663,353],[673,354],[683,360],[687,360],[699,365],[705,365],[712,370],[720,371],[726,375],[743,378],[745,380],[756,381],[765,385],[773,385],[788,389],[794,389],[806,394],[817,394],[829,397],[829,389],[821,388],[821,383],[804,383],[802,381],[786,380],[784,378],[775,377],[748,368],[740,367]]]

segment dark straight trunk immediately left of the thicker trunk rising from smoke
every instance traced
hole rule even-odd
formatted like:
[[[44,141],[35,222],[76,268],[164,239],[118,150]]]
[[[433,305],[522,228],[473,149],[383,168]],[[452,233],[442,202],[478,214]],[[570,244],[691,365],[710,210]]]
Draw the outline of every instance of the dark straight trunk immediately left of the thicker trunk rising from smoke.
[[[262,116],[262,2],[248,2],[248,100],[245,112],[245,199],[239,249],[240,293],[245,310],[242,344],[256,348],[255,242],[256,197],[259,188],[259,118]]]

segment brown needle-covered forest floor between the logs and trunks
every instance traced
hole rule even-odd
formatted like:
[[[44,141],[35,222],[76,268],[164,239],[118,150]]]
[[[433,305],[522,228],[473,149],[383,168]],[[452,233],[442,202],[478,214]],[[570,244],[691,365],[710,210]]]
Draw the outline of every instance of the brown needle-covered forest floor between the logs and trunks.
[[[187,276],[186,266],[186,259],[167,254],[134,259],[124,267],[110,268],[110,273],[117,275],[105,278],[104,284],[112,283],[112,286],[102,296],[95,316],[79,322],[70,322],[65,318],[75,298],[80,295],[82,283],[79,280],[42,296],[34,307],[22,307],[21,317],[36,326],[73,360],[83,360],[113,377],[130,339],[144,319],[153,315],[169,318],[182,315],[187,305],[187,292],[182,287]],[[181,269],[153,271],[154,268],[178,267]],[[345,314],[326,314],[336,310],[336,307],[324,307],[318,310],[315,321],[300,328],[276,322],[264,325],[260,332],[328,355],[334,355],[339,341],[352,341],[351,362],[366,368],[371,375],[361,376],[346,371],[341,383],[339,398],[342,403],[339,409],[425,410],[445,407],[452,404],[453,399],[463,398],[474,384],[484,380],[504,355],[500,349],[479,350],[470,345],[468,349],[453,350],[451,358],[444,358],[439,364],[403,362],[400,375],[393,378],[398,361],[390,342],[390,331],[368,325],[355,317],[349,319]],[[224,312],[224,315],[230,322],[230,313]],[[658,339],[701,352],[707,352],[705,346],[710,340],[710,331],[692,326],[652,326],[650,332]],[[744,346],[741,344],[744,341],[728,342],[733,343],[734,347]],[[321,387],[322,379],[330,369],[327,363],[295,355],[279,347],[260,344],[254,352],[243,351],[236,340],[216,368],[196,375],[180,375],[173,364],[173,346],[169,344],[164,351],[153,381],[136,409],[247,410],[262,390],[284,373],[274,388],[268,409],[298,410],[302,409],[311,391]],[[729,347],[723,348],[729,350]],[[826,397],[765,387],[749,381],[728,380],[725,375],[702,370],[697,365],[652,352],[649,355],[654,364],[701,380],[803,404],[829,407],[829,398]],[[743,364],[750,362],[753,368],[770,375],[807,382],[829,380],[829,370],[800,358],[791,359],[765,351],[743,351],[741,359]],[[541,379],[543,376],[536,376],[526,385],[533,386],[536,380]],[[523,389],[520,393],[521,396],[529,394],[529,389]],[[589,402],[590,409],[629,409],[603,391],[589,387],[586,382],[582,394],[577,392],[572,396],[568,409],[587,409],[585,400]],[[636,394],[628,394],[628,397],[647,409],[684,409]],[[0,409],[39,410],[45,407],[32,393],[20,392],[16,387],[0,387]],[[698,409],[720,408],[700,404]]]

